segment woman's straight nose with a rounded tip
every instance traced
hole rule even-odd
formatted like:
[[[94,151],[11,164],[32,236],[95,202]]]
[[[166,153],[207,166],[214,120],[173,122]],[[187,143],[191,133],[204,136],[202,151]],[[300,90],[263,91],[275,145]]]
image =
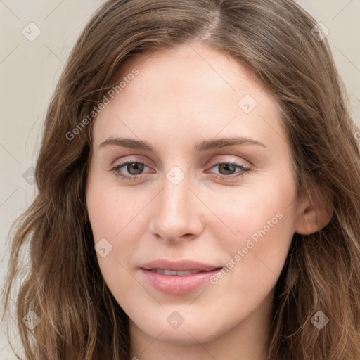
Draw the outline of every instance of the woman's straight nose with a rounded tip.
[[[165,176],[162,184],[158,201],[155,200],[150,233],[168,243],[197,238],[203,231],[204,205],[188,187],[187,176],[176,185]]]

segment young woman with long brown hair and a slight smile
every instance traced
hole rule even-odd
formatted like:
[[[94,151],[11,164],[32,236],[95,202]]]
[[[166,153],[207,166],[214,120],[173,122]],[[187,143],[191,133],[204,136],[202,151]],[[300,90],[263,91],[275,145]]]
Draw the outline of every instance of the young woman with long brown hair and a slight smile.
[[[359,143],[319,33],[289,0],[98,9],[13,238],[26,359],[360,358]]]

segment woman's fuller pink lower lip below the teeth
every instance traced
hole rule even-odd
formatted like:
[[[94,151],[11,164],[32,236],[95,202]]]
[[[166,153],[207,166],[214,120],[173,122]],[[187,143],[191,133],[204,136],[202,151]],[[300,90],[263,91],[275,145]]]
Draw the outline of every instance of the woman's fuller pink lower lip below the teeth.
[[[208,283],[210,278],[216,275],[220,269],[186,276],[167,276],[146,269],[141,269],[141,271],[146,281],[156,290],[169,295],[184,295],[193,293]]]

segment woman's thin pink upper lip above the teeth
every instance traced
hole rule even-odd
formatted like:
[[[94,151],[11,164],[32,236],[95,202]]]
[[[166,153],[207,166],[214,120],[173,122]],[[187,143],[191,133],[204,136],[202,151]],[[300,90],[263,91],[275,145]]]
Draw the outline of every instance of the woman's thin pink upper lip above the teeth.
[[[141,269],[151,270],[151,269],[166,269],[172,271],[190,271],[190,270],[200,270],[200,271],[211,271],[214,269],[219,269],[221,266],[204,264],[203,262],[196,262],[193,260],[180,260],[177,262],[170,262],[165,259],[158,259],[153,262],[147,262],[140,266]]]

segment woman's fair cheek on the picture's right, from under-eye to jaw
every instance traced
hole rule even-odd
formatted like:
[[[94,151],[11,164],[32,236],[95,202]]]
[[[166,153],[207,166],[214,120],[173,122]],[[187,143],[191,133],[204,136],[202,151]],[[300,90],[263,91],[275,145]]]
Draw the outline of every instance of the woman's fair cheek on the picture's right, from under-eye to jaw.
[[[222,236],[221,248],[229,254],[229,262],[214,283],[225,286],[223,276],[231,278],[232,291],[245,295],[239,300],[247,304],[249,298],[257,302],[274,287],[294,234],[295,183],[290,178],[266,180],[257,191],[243,189],[230,203],[217,204],[233,234],[227,231],[229,235]]]

